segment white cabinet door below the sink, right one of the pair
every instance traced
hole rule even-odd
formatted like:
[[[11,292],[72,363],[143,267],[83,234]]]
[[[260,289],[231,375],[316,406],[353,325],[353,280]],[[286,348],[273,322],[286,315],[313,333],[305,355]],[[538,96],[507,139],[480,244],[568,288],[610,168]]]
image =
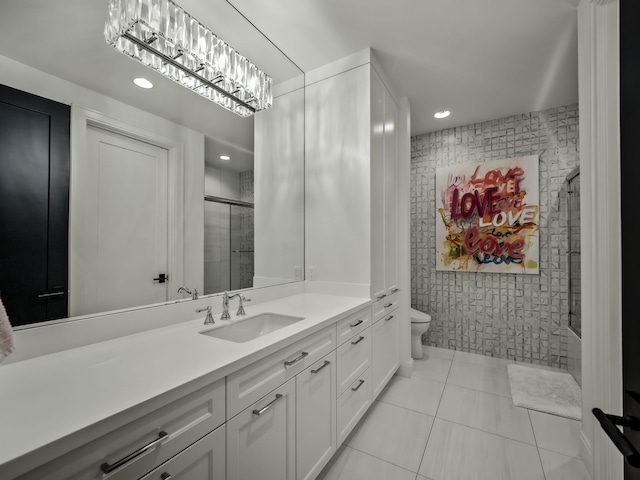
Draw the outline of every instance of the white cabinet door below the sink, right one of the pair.
[[[296,377],[296,478],[315,478],[336,452],[336,352]]]

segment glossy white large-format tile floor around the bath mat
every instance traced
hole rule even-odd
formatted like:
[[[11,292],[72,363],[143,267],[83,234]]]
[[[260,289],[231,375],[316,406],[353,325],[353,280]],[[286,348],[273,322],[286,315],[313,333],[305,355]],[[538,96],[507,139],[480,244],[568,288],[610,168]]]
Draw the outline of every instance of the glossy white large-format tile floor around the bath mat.
[[[320,474],[324,480],[590,480],[580,422],[514,407],[509,360],[425,347]]]

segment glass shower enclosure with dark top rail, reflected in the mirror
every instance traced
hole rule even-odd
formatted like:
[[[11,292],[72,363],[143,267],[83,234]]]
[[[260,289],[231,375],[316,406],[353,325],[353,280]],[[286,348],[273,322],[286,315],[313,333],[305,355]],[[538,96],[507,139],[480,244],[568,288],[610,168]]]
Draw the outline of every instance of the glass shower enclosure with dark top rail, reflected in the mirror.
[[[204,199],[204,294],[252,287],[253,203]]]

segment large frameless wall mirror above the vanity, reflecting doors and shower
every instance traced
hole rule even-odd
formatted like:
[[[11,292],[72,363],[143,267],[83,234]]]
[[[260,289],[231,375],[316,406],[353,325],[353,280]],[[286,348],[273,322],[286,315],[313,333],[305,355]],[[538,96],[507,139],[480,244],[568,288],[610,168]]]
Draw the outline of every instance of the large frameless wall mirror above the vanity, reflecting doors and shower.
[[[232,2],[177,1],[273,78],[273,107],[237,116],[107,45],[106,3],[0,7],[0,121],[15,126],[11,138],[30,132],[29,118],[23,128],[12,116],[25,109],[13,104],[19,91],[69,105],[71,118],[69,239],[58,246],[68,259],[57,262],[66,264],[67,283],[27,273],[46,273],[55,258],[47,250],[53,207],[41,206],[41,227],[9,232],[3,225],[5,238],[42,237],[37,260],[21,252],[29,265],[0,269],[0,298],[14,327],[188,301],[194,290],[203,296],[303,280],[303,72]],[[154,88],[136,87],[137,77]],[[6,152],[16,147],[6,132],[0,145],[11,145],[0,146],[0,168],[8,172]],[[41,184],[29,183],[29,168],[48,167],[26,163],[18,161],[5,184],[13,205],[27,206],[10,213],[35,218],[33,192],[55,187],[47,187],[48,173],[38,174]],[[16,291],[26,292],[22,305]]]

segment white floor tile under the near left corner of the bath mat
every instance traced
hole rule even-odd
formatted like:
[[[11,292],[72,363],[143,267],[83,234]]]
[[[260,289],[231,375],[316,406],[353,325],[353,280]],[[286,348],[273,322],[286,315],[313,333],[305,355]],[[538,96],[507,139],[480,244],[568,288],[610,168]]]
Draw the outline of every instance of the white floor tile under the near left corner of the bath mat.
[[[438,418],[535,445],[529,415],[510,398],[448,384]]]

